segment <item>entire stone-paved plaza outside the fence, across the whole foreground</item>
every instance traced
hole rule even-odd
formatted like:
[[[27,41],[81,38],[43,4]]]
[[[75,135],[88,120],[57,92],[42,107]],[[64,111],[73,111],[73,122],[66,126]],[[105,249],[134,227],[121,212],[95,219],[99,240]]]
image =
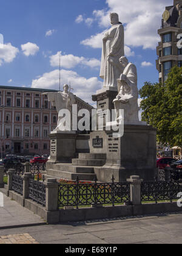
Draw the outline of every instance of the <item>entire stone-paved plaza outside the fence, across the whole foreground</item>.
[[[182,243],[181,213],[42,225],[42,219],[8,197],[5,197],[4,205],[0,208],[0,243]],[[24,227],[18,227],[20,222]],[[8,228],[13,225],[14,228]]]

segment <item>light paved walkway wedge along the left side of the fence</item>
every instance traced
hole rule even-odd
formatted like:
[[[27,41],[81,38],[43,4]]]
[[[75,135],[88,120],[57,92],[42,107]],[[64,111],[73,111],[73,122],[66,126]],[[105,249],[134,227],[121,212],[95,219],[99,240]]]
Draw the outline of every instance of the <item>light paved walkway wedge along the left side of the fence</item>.
[[[44,219],[4,195],[4,206],[0,207],[0,229],[43,224]]]

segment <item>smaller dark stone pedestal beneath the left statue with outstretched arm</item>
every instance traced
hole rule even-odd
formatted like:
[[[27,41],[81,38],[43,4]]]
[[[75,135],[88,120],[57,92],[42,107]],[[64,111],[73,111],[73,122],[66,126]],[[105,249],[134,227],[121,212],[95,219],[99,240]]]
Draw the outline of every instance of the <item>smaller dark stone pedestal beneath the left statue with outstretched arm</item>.
[[[52,132],[50,138],[50,161],[71,163],[76,152],[75,132]]]

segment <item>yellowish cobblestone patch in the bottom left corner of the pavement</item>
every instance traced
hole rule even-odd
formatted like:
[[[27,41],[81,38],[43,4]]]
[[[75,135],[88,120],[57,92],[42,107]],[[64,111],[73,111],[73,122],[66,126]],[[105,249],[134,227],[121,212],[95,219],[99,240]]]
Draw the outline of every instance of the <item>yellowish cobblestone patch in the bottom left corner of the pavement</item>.
[[[0,236],[0,244],[39,244],[28,233],[22,235],[5,235]]]

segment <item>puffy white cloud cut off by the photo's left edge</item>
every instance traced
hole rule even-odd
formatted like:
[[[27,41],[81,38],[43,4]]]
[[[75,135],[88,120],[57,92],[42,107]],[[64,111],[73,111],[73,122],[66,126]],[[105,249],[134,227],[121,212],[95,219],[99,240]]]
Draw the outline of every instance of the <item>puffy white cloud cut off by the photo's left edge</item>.
[[[15,46],[12,46],[11,43],[3,44],[3,47],[0,48],[0,66],[3,63],[11,63],[16,58],[19,49]]]

